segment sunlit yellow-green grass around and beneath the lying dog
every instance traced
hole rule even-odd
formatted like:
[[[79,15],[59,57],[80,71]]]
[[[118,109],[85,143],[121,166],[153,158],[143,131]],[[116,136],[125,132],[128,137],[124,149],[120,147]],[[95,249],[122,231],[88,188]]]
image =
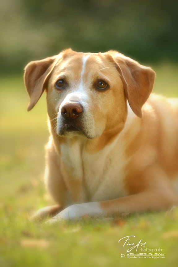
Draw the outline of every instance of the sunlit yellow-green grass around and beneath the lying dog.
[[[161,64],[154,70],[154,92],[178,97],[178,65]],[[30,214],[54,203],[43,184],[49,137],[45,94],[27,113],[28,96],[20,75],[0,78],[0,91],[0,266],[176,266],[176,208],[110,220],[30,222]],[[149,249],[162,247],[165,258],[126,258],[129,246],[118,241],[129,235],[135,236],[132,243],[142,240]]]

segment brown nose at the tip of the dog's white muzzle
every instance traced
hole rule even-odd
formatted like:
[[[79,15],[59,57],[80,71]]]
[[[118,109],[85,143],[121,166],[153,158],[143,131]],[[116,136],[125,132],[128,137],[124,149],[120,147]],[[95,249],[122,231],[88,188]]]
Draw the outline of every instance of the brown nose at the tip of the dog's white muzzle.
[[[78,102],[67,102],[61,109],[64,118],[76,119],[82,114],[82,106]]]

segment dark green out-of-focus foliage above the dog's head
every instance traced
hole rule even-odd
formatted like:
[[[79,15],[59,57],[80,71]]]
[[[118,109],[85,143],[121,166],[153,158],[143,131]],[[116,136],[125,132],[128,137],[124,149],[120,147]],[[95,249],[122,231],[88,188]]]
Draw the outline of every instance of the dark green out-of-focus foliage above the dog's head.
[[[141,62],[178,60],[178,1],[1,0],[0,71],[65,48],[119,50]]]

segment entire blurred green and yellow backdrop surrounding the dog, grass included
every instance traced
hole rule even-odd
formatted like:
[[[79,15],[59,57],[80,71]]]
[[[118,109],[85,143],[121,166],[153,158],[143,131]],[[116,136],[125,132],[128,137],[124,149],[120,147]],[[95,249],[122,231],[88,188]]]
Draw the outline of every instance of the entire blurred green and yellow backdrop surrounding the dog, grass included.
[[[59,260],[67,267],[84,262],[118,266],[123,253],[118,240],[133,233],[150,247],[167,251],[166,261],[157,265],[154,260],[152,266],[177,263],[178,210],[170,221],[165,214],[146,214],[119,220],[115,226],[94,222],[44,229],[28,221],[34,211],[54,202],[43,182],[49,137],[46,94],[27,113],[23,69],[31,60],[69,47],[83,52],[118,50],[155,70],[155,93],[178,97],[178,1],[0,0],[0,266],[51,267],[59,266]],[[69,232],[73,234],[66,238]],[[25,238],[32,243],[24,243]],[[40,244],[50,248],[39,251]],[[124,260],[122,266],[127,266]],[[150,261],[135,260],[132,266],[150,266]]]

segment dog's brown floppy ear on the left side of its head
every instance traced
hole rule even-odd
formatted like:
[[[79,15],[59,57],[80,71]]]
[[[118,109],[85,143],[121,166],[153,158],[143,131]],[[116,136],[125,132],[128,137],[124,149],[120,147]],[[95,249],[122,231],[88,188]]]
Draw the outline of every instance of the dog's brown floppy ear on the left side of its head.
[[[43,91],[46,89],[50,73],[54,69],[57,56],[32,61],[25,67],[24,82],[30,97],[27,110],[33,109]]]

